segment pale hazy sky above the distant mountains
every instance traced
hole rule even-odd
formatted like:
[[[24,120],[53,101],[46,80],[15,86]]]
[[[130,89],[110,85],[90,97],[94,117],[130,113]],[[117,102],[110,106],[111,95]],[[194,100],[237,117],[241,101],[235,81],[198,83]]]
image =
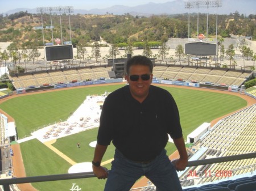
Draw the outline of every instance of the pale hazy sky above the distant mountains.
[[[165,3],[174,0],[0,0],[0,13],[18,8],[73,6],[74,9],[104,9],[113,5],[137,6],[149,2]]]

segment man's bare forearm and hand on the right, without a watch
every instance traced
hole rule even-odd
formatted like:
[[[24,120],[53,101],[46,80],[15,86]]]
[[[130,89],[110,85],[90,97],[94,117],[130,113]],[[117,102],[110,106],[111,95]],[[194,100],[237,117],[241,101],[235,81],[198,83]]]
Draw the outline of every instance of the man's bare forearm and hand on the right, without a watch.
[[[187,154],[187,149],[185,147],[185,142],[183,137],[173,139],[174,144],[179,152],[180,158],[177,160],[172,161],[175,164],[175,167],[177,171],[184,171],[184,169],[188,165],[188,154]]]

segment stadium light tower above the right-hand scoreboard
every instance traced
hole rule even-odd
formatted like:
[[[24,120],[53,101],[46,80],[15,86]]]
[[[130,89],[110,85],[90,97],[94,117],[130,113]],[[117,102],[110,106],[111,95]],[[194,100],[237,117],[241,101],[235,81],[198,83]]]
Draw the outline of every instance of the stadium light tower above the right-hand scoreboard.
[[[221,7],[222,0],[187,0],[185,1],[185,9],[197,8],[197,38],[199,35],[199,8],[207,8],[207,38],[208,38],[208,8],[210,7]],[[216,13],[217,15],[217,13]],[[217,18],[216,16],[216,40],[217,40]]]

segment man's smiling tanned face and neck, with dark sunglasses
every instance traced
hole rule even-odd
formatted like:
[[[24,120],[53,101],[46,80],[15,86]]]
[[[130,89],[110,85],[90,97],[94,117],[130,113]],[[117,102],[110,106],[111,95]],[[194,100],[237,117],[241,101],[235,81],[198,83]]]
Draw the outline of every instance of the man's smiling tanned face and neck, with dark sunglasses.
[[[131,76],[133,75],[139,75],[139,78],[137,77],[138,80],[132,80],[133,77]],[[143,75],[143,77],[141,75]],[[149,75],[149,79],[147,79],[147,75]],[[129,75],[125,76],[125,79],[130,85],[131,95],[134,97],[134,99],[138,100],[140,103],[142,103],[142,101],[146,99],[148,95],[150,84],[152,82],[152,76],[153,75],[150,73],[149,67],[143,66],[143,65],[131,66],[129,70]]]

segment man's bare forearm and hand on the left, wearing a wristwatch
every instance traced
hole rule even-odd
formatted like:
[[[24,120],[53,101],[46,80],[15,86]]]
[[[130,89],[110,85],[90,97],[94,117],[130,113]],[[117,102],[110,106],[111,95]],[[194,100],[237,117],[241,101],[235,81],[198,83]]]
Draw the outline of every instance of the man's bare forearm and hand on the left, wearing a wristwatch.
[[[94,150],[94,158],[93,158],[93,162],[100,162],[106,152],[106,149],[108,148],[108,145],[96,145],[96,148]],[[108,178],[108,172],[106,171],[106,168],[101,167],[101,165],[99,167],[96,167],[95,165],[92,165],[93,167],[93,172],[94,175],[96,175],[98,177],[98,179],[106,179]]]

